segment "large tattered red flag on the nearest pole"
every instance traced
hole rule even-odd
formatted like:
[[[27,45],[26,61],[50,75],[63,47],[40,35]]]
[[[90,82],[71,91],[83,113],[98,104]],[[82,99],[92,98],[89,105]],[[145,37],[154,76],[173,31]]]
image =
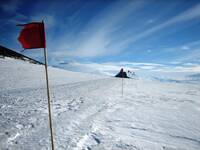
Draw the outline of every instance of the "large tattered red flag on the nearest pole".
[[[18,40],[24,49],[46,47],[43,22],[32,22],[18,26],[24,27],[18,37]]]

